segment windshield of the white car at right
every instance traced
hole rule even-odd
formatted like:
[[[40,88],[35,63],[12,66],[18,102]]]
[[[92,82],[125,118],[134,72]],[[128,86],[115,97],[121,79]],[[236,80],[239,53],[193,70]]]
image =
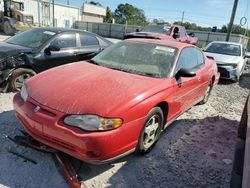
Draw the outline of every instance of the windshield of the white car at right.
[[[241,56],[240,45],[236,45],[236,44],[211,43],[205,49],[205,52],[232,55],[232,56]]]

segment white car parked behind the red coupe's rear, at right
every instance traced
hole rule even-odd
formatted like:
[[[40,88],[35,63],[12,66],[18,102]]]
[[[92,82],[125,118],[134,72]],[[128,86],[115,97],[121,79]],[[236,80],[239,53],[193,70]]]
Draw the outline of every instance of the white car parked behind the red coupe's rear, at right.
[[[211,42],[204,52],[214,58],[221,78],[235,81],[239,81],[250,57],[245,54],[242,44],[224,41]]]

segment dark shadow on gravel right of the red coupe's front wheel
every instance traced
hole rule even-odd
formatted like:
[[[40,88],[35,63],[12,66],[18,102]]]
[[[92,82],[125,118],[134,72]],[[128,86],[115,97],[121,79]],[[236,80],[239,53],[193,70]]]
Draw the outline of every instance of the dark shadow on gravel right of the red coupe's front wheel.
[[[238,124],[223,117],[177,120],[150,153],[84,163],[79,172],[87,187],[229,187],[232,165],[223,160],[233,159]]]

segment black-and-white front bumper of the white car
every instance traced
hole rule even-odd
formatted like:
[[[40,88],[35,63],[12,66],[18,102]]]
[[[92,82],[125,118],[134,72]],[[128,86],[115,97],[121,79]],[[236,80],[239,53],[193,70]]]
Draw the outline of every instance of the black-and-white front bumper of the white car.
[[[218,64],[217,67],[220,73],[220,78],[238,80],[239,75],[237,68],[233,68],[232,66],[218,65]]]

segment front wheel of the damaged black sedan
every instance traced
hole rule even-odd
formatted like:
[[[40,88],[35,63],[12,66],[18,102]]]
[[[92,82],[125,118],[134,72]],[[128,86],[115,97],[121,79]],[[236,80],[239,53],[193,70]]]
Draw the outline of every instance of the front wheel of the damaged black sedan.
[[[27,68],[14,70],[9,78],[9,91],[20,91],[24,82],[35,75],[35,71]]]

